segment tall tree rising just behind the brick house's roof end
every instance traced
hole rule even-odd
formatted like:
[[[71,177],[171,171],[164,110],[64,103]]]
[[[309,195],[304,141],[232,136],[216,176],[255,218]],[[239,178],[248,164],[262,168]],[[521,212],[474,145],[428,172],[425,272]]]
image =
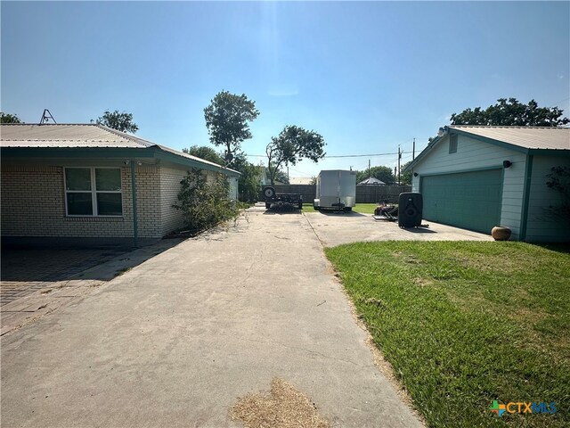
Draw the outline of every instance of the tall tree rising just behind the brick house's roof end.
[[[256,103],[245,94],[234,95],[228,91],[217,94],[204,109],[204,119],[210,142],[225,148],[225,161],[230,163],[240,144],[251,138],[248,122],[256,119],[259,111]]]

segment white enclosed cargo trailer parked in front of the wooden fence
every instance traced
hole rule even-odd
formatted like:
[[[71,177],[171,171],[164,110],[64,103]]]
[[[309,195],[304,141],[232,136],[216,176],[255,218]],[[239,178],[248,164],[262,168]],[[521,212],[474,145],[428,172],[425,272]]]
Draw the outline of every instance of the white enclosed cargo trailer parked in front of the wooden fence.
[[[330,169],[317,177],[315,210],[335,209],[350,211],[356,204],[356,171]]]

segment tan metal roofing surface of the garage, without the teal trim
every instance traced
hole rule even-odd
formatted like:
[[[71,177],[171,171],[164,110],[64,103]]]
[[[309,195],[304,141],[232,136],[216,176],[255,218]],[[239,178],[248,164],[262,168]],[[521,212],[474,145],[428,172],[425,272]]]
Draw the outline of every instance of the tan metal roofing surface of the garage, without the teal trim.
[[[525,149],[570,150],[570,128],[548,127],[483,127],[452,125],[475,136],[483,136]]]

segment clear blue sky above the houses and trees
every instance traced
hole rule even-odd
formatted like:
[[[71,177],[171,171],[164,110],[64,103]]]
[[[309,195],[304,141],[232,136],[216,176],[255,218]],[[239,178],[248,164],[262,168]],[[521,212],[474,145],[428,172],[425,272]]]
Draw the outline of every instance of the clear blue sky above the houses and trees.
[[[330,155],[392,153],[500,97],[570,111],[568,2],[3,1],[1,12],[2,111],[32,123],[45,108],[58,123],[128,111],[137,136],[177,149],[208,144],[203,109],[222,89],[261,111],[242,146],[252,155],[285,125],[319,132]],[[290,175],[368,159],[303,161]]]

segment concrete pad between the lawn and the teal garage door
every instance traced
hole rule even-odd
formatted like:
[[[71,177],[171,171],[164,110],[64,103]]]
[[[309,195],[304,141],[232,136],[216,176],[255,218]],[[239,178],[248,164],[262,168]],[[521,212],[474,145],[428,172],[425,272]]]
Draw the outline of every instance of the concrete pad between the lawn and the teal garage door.
[[[305,217],[322,244],[327,247],[362,241],[493,241],[491,235],[426,220],[423,224],[429,227],[403,229],[397,221],[375,220],[371,214],[354,211],[305,212]]]

